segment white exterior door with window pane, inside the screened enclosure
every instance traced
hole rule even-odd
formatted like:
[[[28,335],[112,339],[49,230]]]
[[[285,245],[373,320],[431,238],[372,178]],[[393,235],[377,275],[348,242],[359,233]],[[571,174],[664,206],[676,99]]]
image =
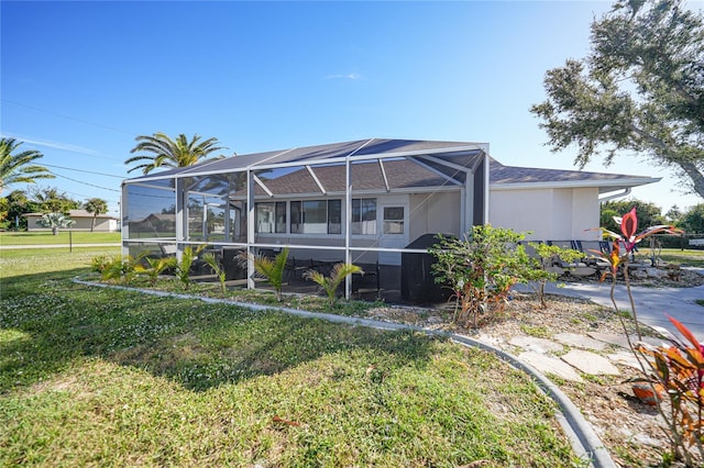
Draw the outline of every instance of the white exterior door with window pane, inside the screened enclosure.
[[[404,248],[408,245],[408,196],[388,196],[377,199],[378,246]],[[380,252],[382,265],[400,265],[400,253]]]

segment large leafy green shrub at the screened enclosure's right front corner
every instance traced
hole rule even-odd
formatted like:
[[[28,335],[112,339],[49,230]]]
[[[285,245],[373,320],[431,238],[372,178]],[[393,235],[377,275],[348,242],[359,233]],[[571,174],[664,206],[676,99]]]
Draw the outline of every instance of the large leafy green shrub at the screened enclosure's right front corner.
[[[452,289],[457,300],[454,322],[472,326],[488,314],[490,305],[502,310],[512,286],[524,281],[528,265],[526,250],[518,243],[524,234],[512,230],[473,226],[463,238],[447,238],[428,249],[437,258],[432,266],[436,282]]]

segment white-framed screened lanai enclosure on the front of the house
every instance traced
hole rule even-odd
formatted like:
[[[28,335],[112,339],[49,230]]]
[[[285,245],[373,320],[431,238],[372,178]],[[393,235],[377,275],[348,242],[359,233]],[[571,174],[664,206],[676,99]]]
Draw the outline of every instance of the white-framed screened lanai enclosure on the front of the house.
[[[206,244],[228,280],[249,288],[253,265],[238,254],[288,247],[290,281],[353,263],[366,275],[346,281],[346,297],[355,282],[417,296],[408,281],[432,281],[424,239],[483,224],[487,193],[488,148],[480,143],[373,138],[238,155],[125,180],[122,246],[179,256]]]

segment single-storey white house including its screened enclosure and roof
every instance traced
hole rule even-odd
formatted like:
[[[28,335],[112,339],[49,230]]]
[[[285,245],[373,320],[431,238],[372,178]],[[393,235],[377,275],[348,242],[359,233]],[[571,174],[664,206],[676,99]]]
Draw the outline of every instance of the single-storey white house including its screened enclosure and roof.
[[[122,244],[132,254],[287,246],[298,259],[403,267],[402,254],[426,253],[407,248],[424,235],[486,222],[532,238],[596,238],[585,230],[598,226],[600,196],[658,180],[503,166],[483,143],[372,138],[128,179]]]

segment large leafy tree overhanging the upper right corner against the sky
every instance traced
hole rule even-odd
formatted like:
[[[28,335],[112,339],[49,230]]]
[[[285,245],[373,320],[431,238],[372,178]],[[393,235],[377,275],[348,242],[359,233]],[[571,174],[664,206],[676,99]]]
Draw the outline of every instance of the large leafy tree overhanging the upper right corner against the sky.
[[[606,149],[671,168],[704,197],[704,20],[681,0],[618,0],[592,23],[592,52],[544,78],[531,108],[553,152],[576,144],[584,167]]]

